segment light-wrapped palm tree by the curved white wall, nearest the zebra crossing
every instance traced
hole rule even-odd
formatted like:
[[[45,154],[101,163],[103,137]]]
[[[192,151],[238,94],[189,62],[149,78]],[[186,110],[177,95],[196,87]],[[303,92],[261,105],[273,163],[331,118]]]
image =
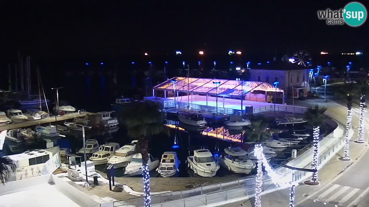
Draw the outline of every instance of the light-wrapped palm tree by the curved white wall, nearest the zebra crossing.
[[[319,108],[318,105],[316,105],[314,108],[309,108],[305,112],[305,119],[307,120],[307,123],[310,124],[310,126],[313,127],[313,147],[314,147],[314,155],[313,155],[313,161],[312,161],[312,169],[315,169],[316,172],[313,173],[313,176],[311,176],[311,180],[306,182],[307,185],[318,185],[318,150],[319,150],[319,135],[320,135],[320,127],[325,122],[325,119],[328,117],[324,114],[324,112],[327,110],[327,108]]]

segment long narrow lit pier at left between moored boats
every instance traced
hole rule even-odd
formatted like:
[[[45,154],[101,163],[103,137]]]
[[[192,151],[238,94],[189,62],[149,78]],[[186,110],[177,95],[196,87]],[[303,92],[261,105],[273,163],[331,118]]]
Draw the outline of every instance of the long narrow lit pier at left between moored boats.
[[[56,116],[56,121],[63,121],[68,119],[74,119],[74,117],[83,117],[89,114],[95,114],[91,112],[74,112],[74,113],[67,113],[65,115]],[[18,128],[25,128],[29,126],[39,125],[39,124],[47,124],[55,122],[55,116],[47,117],[44,119],[37,119],[37,120],[28,120],[22,123],[11,123],[5,126],[0,126],[0,131],[4,130],[11,130],[11,129],[18,129]]]

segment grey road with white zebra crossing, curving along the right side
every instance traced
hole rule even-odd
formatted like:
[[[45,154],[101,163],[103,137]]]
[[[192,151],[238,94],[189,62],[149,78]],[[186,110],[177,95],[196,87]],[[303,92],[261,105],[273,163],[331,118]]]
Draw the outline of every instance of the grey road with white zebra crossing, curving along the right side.
[[[313,106],[320,105],[327,107],[327,113],[341,123],[346,123],[346,103],[342,102],[318,102],[318,101],[295,101],[295,105]],[[297,207],[367,207],[369,206],[369,152],[368,144],[357,144],[356,140],[359,125],[359,108],[354,106],[352,126],[354,136],[350,141],[350,155],[352,161],[342,162],[337,158],[343,157],[343,149],[334,158],[325,164],[319,171],[320,186],[310,187],[302,183],[296,186],[295,206]],[[365,143],[368,143],[369,114],[366,113]],[[262,196],[262,206],[268,207],[288,207],[290,189],[283,189],[277,192]],[[254,207],[254,199],[239,201],[224,205],[225,207]]]

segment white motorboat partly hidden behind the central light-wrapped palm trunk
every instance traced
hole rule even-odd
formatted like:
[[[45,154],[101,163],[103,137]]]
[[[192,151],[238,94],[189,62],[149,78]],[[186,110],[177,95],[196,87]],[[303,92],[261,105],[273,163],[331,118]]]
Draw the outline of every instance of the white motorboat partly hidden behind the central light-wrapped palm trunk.
[[[147,161],[149,166],[149,171],[157,168],[159,166],[159,160],[157,158],[152,157],[149,154],[149,160]],[[132,157],[132,161],[125,167],[124,171],[125,175],[135,176],[142,174],[142,155],[141,153],[136,153]]]

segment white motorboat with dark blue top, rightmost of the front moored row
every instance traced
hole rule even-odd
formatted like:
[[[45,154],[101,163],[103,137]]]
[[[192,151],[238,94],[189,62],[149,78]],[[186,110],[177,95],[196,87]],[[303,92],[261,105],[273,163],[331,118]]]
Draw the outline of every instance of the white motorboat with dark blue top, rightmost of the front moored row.
[[[256,167],[248,157],[248,153],[240,147],[225,148],[224,154],[215,158],[221,167],[235,173],[249,174]]]

